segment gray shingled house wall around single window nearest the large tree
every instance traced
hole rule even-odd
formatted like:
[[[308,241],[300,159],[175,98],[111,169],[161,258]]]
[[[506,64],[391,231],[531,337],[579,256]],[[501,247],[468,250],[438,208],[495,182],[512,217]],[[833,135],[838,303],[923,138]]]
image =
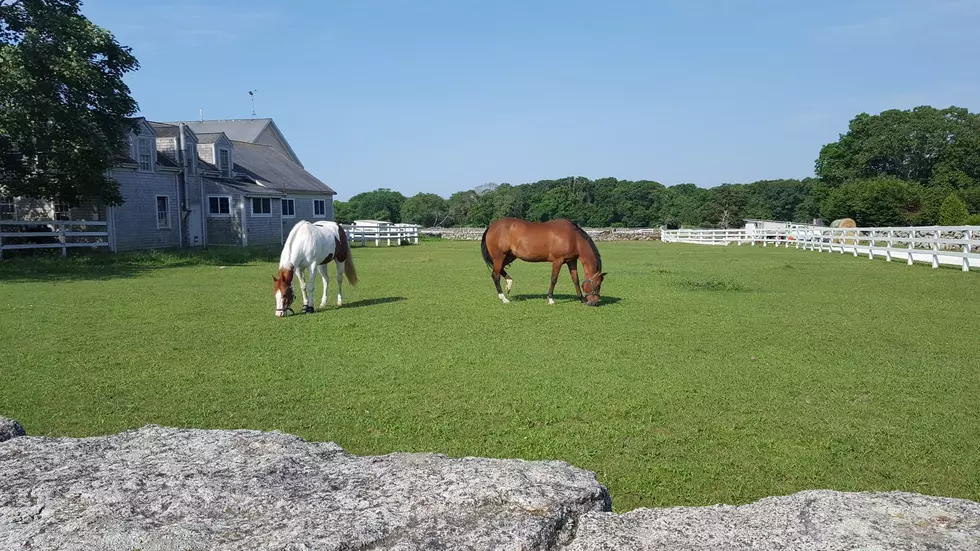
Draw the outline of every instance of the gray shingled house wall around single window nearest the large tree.
[[[113,177],[125,201],[113,207],[116,250],[159,249],[180,245],[176,175],[117,169]],[[157,229],[157,196],[169,201],[170,228]]]

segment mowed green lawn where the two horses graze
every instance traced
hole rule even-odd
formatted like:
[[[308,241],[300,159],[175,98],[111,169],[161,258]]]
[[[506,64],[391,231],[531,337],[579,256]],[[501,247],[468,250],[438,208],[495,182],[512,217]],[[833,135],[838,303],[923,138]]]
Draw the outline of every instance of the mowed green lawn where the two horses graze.
[[[5,260],[0,415],[34,435],[157,423],[559,459],[619,511],[808,488],[980,499],[980,273],[598,245],[599,308],[567,272],[548,306],[550,267],[521,262],[501,304],[478,243],[435,241],[355,247],[347,304],[332,279],[328,309],[286,319],[277,251]]]

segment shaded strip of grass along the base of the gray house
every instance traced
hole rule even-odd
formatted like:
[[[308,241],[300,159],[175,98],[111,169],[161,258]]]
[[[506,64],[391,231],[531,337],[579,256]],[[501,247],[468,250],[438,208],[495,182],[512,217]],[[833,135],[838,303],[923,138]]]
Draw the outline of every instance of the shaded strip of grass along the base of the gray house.
[[[152,270],[189,266],[244,266],[254,262],[278,262],[278,247],[212,246],[207,250],[153,249],[113,254],[105,251],[72,251],[21,255],[0,261],[0,281],[50,282],[107,280],[136,277]]]

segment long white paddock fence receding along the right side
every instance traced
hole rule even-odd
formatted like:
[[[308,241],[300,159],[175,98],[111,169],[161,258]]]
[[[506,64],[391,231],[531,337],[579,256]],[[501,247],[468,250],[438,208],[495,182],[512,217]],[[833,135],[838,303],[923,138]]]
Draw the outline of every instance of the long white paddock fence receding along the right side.
[[[928,262],[960,266],[964,272],[980,267],[980,226],[905,226],[893,228],[805,227],[785,230],[663,230],[665,243],[699,245],[761,244],[808,251]]]

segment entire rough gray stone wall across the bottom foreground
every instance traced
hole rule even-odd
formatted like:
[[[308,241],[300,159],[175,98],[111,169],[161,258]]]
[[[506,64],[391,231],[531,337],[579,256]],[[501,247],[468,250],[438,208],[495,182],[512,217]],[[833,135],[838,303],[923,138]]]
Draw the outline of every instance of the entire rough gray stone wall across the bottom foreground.
[[[0,417],[0,549],[980,549],[980,503],[829,490],[611,512],[560,461],[362,457],[280,432],[26,436]]]

